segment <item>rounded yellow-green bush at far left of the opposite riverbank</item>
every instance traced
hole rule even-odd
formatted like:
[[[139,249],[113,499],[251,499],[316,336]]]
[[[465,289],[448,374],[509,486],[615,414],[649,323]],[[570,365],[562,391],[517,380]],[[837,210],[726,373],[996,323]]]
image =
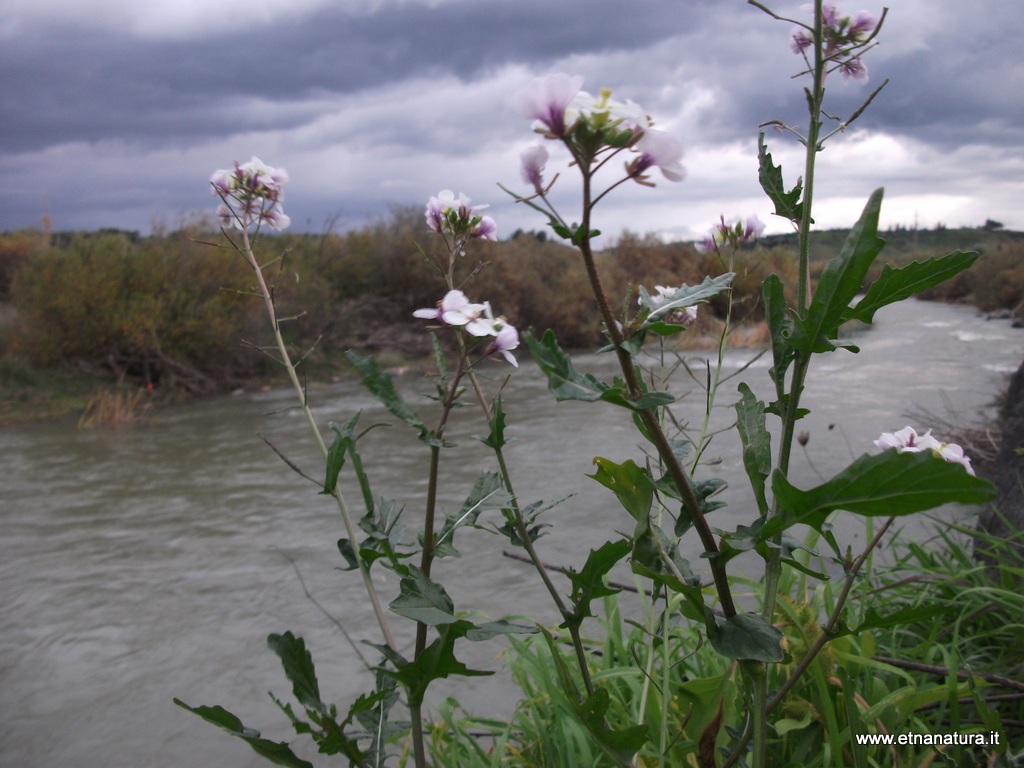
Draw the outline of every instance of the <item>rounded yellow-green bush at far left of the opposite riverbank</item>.
[[[246,278],[238,256],[184,233],[78,236],[15,272],[12,351],[212,390],[245,373],[239,343],[258,309],[239,293]]]

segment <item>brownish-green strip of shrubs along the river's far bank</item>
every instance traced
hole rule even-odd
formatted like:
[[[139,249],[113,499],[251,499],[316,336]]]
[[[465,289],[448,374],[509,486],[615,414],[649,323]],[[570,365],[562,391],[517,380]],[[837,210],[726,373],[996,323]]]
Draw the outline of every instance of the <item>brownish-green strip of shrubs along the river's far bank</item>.
[[[812,233],[812,259],[821,264],[834,256],[846,234]],[[988,221],[975,228],[896,228],[884,237],[883,256],[893,265],[955,249],[981,253],[969,270],[924,298],[1024,314],[1024,232]],[[311,382],[345,376],[342,353],[350,348],[377,354],[386,368],[428,358],[429,342],[412,316],[412,309],[436,299],[432,267],[418,246],[423,242],[419,207],[396,208],[344,234],[276,234],[261,242],[261,255],[278,259],[274,295],[283,316],[293,317],[285,324],[288,342],[305,355]],[[122,230],[0,234],[0,423],[88,417],[100,397],[98,404],[108,408],[116,400],[117,414],[117,403],[137,408],[155,398],[278,383],[281,372],[259,351],[266,339],[249,275],[225,245],[206,223],[150,237]],[[774,236],[739,252],[732,343],[764,343],[761,283],[774,272],[792,284],[794,249],[795,236]],[[459,280],[467,281],[469,295],[490,297],[519,327],[551,328],[567,346],[585,347],[600,330],[585,281],[569,268],[573,258],[571,248],[544,231],[517,231],[479,244]],[[626,302],[636,300],[637,285],[692,285],[725,271],[714,254],[692,244],[631,232],[599,254],[599,266],[609,293]],[[716,297],[682,343],[717,344],[724,309]],[[139,388],[144,397],[134,395]]]

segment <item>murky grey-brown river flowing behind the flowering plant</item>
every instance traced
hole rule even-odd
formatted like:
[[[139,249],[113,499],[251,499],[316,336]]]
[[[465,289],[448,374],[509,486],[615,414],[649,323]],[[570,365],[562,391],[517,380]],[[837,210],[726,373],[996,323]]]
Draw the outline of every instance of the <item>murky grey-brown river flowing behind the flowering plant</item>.
[[[883,309],[856,341],[859,354],[834,352],[811,369],[805,402],[812,414],[801,427],[810,440],[806,453],[796,452],[792,475],[798,485],[814,484],[818,472],[830,475],[853,454],[872,451],[881,432],[909,423],[908,411],[942,414],[948,402],[965,420],[990,412],[1006,374],[1024,356],[1024,331],[1008,322],[926,302]],[[638,458],[637,435],[626,412],[613,406],[555,402],[519,351],[522,365],[505,394],[509,434],[516,438],[507,452],[510,467],[527,503],[575,494],[548,513],[554,527],[539,547],[548,562],[580,565],[587,548],[632,527],[610,494],[584,473],[593,471],[595,456]],[[752,357],[729,352],[726,371]],[[702,371],[700,354],[687,359]],[[575,362],[599,377],[610,376],[613,366],[610,355],[581,355]],[[740,377],[760,396],[770,394],[768,366],[762,357]],[[485,384],[497,386],[508,372],[489,366]],[[721,402],[735,398],[737,381],[722,387]],[[417,408],[429,402],[417,396],[428,388],[419,377],[399,376],[398,384]],[[689,388],[674,408],[698,426],[702,397]],[[290,629],[306,639],[325,700],[345,709],[362,690],[366,678],[351,646],[305,594],[308,589],[356,640],[378,641],[358,579],[336,570],[337,511],[259,436],[321,474],[304,420],[295,410],[283,411],[292,397],[282,390],[210,398],[119,428],[78,430],[73,421],[56,421],[0,430],[0,766],[266,765],[171,699],[221,703],[264,736],[293,740],[266,695],[291,694],[266,647],[272,632]],[[361,424],[389,421],[352,382],[315,389],[311,400],[325,432],[328,422],[357,410]],[[470,437],[483,431],[471,411],[457,414],[450,436],[459,447],[443,460],[441,502],[450,507],[461,504],[481,470],[494,468]],[[432,409],[421,412],[431,423]],[[722,408],[714,423],[730,419]],[[360,445],[376,492],[406,504],[412,527],[425,488],[424,446],[397,426],[375,429]],[[735,449],[733,434],[723,434],[707,454],[715,461],[709,471],[732,486],[725,497],[730,506],[714,519],[724,528],[750,517]],[[354,489],[348,496],[358,498]],[[863,540],[856,526],[839,538],[854,546]],[[553,618],[536,574],[503,557],[497,537],[464,530],[456,546],[464,556],[441,561],[435,577],[458,609]],[[394,580],[377,570],[384,593],[393,594]],[[463,655],[500,669],[494,657],[502,647],[495,640]],[[488,685],[474,679],[439,690],[457,691],[478,714],[507,714],[507,684],[499,676],[502,695]]]

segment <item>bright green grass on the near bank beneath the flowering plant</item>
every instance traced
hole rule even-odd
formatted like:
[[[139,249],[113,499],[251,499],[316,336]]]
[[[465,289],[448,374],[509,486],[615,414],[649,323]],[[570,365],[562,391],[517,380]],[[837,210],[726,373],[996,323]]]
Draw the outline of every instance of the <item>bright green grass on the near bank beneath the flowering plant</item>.
[[[1024,766],[1024,563],[1012,542],[936,522],[922,543],[896,538],[892,565],[864,573],[847,611],[857,626],[879,613],[938,606],[937,613],[891,629],[839,637],[811,665],[770,716],[769,765],[778,768],[939,768]],[[1024,538],[1024,532],[1020,535]],[[998,565],[975,558],[987,550]],[[751,584],[756,590],[758,585]],[[776,625],[790,658],[769,671],[777,688],[820,633],[838,591],[828,582],[790,571],[780,586]],[[685,622],[664,623],[664,602],[638,597],[641,621],[624,621],[624,594],[605,598],[589,625],[595,684],[607,691],[609,729],[637,723],[652,737],[632,765],[699,766],[717,748],[721,764],[744,722],[742,677],[735,665],[701,645]],[[633,606],[636,607],[636,606]],[[557,630],[554,630],[557,632]],[[561,647],[561,646],[556,646]],[[621,766],[596,743],[580,716],[579,698],[560,681],[571,649],[553,659],[538,636],[512,639],[510,667],[521,700],[509,722],[474,718],[442,702],[431,731],[437,765],[561,768]],[[579,682],[577,683],[579,687]],[[998,731],[1000,745],[868,745],[858,734],[952,734]],[[1008,746],[1009,744],[1009,746]],[[1019,748],[1018,748],[1019,749]],[[738,763],[742,765],[742,762]]]

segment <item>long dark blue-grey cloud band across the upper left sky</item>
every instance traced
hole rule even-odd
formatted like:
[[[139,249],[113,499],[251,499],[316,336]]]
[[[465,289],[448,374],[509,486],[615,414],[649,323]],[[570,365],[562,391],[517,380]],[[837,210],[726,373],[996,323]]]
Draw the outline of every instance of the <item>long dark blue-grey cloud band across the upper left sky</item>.
[[[0,51],[0,141],[31,151],[71,140],[166,141],[242,128],[290,128],[302,102],[410,77],[471,80],[507,62],[649,46],[694,24],[709,3],[466,1],[352,16],[338,8],[224,37],[153,40],[47,24]],[[585,8],[586,12],[581,13]],[[246,99],[289,105],[244,112]]]

